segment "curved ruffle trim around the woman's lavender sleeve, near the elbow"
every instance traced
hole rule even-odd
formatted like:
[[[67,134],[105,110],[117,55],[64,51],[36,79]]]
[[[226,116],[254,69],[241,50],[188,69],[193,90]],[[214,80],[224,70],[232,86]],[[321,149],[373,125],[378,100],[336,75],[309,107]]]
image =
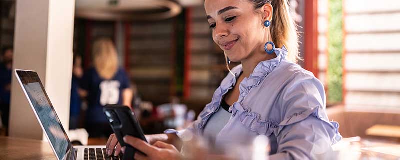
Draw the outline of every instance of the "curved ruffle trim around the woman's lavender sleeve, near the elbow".
[[[304,119],[306,119],[308,116],[314,116],[316,118],[318,118],[319,120],[322,120],[323,122],[325,122],[327,125],[329,125],[330,127],[332,127],[334,129],[333,133],[329,133],[329,134],[333,134],[331,135],[332,141],[331,144],[335,144],[338,141],[340,141],[342,139],[342,136],[339,133],[339,124],[335,121],[329,121],[326,119],[325,116],[323,116],[322,114],[320,114],[320,106],[317,105],[315,108],[309,109],[309,110],[303,110],[297,113],[293,113],[287,117],[285,117],[285,119],[280,122],[278,129],[275,130],[274,134],[277,137],[280,133],[280,131],[282,131],[282,129],[287,126],[287,125],[291,125],[297,122],[300,122]]]

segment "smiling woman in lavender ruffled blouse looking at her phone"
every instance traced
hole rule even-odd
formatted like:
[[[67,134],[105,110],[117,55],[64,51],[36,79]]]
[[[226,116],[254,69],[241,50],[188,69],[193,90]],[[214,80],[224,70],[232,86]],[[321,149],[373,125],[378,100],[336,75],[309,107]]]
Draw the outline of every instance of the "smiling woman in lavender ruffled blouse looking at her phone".
[[[178,158],[167,143],[190,133],[204,136],[216,148],[246,145],[266,135],[269,159],[319,159],[331,151],[341,139],[338,124],[328,120],[321,82],[295,64],[297,32],[287,0],[205,0],[205,11],[214,42],[241,65],[222,80],[190,127],[148,135],[153,145],[125,137],[148,155],[136,154],[135,159]],[[116,143],[111,135],[109,152]]]

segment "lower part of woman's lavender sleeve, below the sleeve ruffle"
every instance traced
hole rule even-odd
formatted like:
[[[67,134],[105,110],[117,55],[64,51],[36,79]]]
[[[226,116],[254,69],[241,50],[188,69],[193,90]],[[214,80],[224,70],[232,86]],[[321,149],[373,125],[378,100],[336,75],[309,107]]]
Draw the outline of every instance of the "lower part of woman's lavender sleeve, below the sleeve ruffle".
[[[285,126],[277,136],[277,153],[269,159],[329,159],[333,157],[332,131],[329,124],[315,116]]]

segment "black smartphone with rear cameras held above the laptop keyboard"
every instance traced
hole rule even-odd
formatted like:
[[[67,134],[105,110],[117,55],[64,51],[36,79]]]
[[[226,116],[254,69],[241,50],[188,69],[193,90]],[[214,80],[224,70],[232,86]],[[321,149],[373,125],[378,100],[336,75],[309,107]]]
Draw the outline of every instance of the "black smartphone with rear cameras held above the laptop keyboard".
[[[143,130],[130,108],[123,105],[106,105],[103,108],[103,112],[121,146],[126,146],[123,159],[133,159],[136,151],[144,154],[123,141],[124,136],[130,135],[147,142]]]

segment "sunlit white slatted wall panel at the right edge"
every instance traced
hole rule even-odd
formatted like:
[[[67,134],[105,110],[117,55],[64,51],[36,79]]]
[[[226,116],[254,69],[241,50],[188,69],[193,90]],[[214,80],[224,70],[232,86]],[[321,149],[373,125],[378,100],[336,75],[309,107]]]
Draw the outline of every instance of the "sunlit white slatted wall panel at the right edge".
[[[349,109],[400,108],[400,1],[344,0]]]

